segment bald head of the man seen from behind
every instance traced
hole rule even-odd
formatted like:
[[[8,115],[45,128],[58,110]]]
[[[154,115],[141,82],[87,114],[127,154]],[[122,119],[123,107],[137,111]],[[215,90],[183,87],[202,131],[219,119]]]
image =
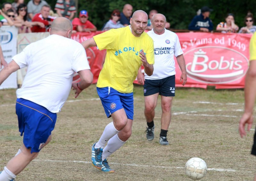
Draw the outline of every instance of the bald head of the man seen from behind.
[[[58,17],[52,21],[50,34],[65,36],[68,31],[72,31],[73,26],[68,18]]]

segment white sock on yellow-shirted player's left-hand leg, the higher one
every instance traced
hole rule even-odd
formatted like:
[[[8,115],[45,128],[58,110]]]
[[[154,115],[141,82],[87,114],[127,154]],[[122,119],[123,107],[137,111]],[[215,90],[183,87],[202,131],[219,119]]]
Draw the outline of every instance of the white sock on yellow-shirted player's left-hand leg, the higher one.
[[[110,138],[112,138],[115,134],[117,134],[118,132],[119,131],[116,130],[114,123],[112,121],[105,127],[105,129],[100,137],[100,140],[95,144],[94,148],[104,148],[107,141]]]

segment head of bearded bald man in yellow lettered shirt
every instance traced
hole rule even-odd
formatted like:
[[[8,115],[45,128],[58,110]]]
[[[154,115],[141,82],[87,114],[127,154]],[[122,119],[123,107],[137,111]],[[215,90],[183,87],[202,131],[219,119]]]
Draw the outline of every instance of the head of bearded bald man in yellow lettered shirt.
[[[133,18],[130,19],[130,24],[132,34],[139,37],[148,25],[148,15],[143,12],[137,12],[136,15],[133,15]]]

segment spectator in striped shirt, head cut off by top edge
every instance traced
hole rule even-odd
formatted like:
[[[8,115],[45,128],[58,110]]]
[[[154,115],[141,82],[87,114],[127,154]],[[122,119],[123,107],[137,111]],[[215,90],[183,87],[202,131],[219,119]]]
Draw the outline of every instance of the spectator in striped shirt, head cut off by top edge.
[[[55,10],[59,17],[66,17],[69,20],[74,18],[76,13],[76,4],[74,0],[57,0]]]

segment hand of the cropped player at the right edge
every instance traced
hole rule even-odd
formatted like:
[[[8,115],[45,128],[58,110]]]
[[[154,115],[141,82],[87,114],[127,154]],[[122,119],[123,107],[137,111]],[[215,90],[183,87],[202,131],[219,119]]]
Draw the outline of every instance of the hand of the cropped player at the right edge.
[[[242,138],[246,135],[245,125],[248,124],[247,130],[250,131],[250,129],[252,128],[252,122],[253,122],[252,114],[248,112],[244,112],[242,118],[239,121],[239,127],[238,127],[240,136]]]

